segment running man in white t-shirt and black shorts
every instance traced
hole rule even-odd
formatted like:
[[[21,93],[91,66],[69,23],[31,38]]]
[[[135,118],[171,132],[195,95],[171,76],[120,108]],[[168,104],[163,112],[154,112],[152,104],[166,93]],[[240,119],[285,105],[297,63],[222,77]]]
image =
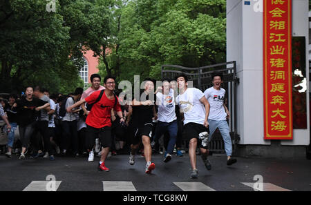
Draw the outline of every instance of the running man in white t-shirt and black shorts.
[[[197,88],[187,88],[188,79],[186,75],[180,75],[176,78],[179,95],[176,97],[176,103],[180,107],[180,112],[184,114],[184,130],[189,138],[189,158],[192,168],[190,177],[198,177],[196,168],[196,147],[200,146],[202,160],[207,170],[211,169],[211,164],[207,159],[209,151],[207,149],[207,127],[209,123],[209,102],[203,92]]]

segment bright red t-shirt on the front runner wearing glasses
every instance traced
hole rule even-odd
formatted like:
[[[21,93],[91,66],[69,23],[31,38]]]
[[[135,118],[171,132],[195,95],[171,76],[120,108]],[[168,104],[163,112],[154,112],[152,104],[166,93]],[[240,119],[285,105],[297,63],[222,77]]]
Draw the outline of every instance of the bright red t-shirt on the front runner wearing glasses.
[[[93,92],[91,95],[86,97],[85,101],[88,104],[95,103],[97,97],[100,96],[100,90]],[[113,106],[115,107],[113,108]],[[119,104],[119,99],[117,98],[117,104],[115,104],[115,98],[108,99],[106,93],[102,94],[100,101],[95,103],[86,117],[86,124],[93,128],[103,128],[106,126],[111,126],[111,109],[121,111],[121,106]]]

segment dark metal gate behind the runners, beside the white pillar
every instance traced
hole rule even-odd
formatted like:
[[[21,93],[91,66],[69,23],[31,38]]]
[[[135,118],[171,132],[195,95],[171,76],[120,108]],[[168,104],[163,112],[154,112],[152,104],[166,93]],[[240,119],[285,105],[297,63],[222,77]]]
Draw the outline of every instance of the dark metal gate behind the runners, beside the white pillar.
[[[226,90],[225,104],[230,112],[230,118],[228,121],[230,128],[230,135],[232,138],[233,151],[236,150],[236,144],[240,140],[240,137],[236,131],[236,86],[239,83],[238,77],[236,77],[236,61],[230,61],[223,64],[215,64],[211,66],[203,66],[198,68],[187,68],[176,65],[163,65],[162,66],[162,79],[169,78],[175,79],[180,74],[187,75],[189,87],[194,87],[204,92],[207,88],[210,88],[211,75],[213,72],[221,72],[223,74],[223,88]],[[192,81],[192,85],[191,85]],[[187,143],[185,143],[187,146]],[[217,129],[212,136],[212,140],[209,142],[209,150],[214,153],[224,153],[223,137],[221,137],[219,130]]]

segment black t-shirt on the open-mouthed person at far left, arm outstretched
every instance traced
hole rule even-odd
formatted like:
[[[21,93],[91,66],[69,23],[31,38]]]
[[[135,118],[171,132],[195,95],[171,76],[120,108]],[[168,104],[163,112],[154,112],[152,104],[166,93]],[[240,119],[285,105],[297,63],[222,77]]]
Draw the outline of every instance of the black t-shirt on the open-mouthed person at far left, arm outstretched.
[[[46,101],[35,97],[32,98],[32,101],[28,101],[25,97],[17,101],[17,124],[20,126],[27,126],[36,121],[39,112],[37,112],[35,108],[43,106],[44,104],[46,104]]]

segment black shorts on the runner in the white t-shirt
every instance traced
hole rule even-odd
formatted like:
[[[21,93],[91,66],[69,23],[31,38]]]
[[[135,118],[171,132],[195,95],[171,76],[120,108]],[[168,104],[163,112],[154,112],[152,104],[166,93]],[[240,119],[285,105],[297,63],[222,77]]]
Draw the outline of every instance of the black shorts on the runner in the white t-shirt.
[[[204,142],[202,143],[202,139],[199,138],[200,133],[204,133],[204,132],[208,133],[208,129],[205,126],[203,126],[202,124],[189,122],[185,124],[184,130],[185,130],[185,135],[187,136],[187,139],[189,139],[189,141],[190,139],[196,138],[198,139],[198,144],[200,148],[207,149],[207,145],[205,145]]]

